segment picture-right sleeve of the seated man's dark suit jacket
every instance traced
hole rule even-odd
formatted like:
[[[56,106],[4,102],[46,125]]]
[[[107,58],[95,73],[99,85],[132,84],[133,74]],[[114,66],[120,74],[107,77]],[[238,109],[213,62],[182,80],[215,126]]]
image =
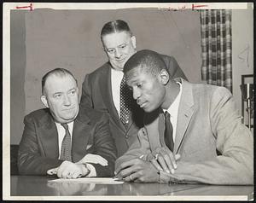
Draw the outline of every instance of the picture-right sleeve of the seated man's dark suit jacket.
[[[93,165],[96,169],[97,177],[113,177],[114,162],[117,157],[117,150],[113,137],[108,126],[108,115],[102,114],[102,117],[96,122],[96,128],[93,135],[93,146],[88,150],[90,154],[97,154],[108,160],[107,166],[100,164]]]

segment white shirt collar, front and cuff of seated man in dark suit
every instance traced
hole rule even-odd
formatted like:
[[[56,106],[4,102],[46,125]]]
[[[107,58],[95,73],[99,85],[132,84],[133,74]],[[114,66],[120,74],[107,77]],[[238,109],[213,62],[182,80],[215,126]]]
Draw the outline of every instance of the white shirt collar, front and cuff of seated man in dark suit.
[[[64,139],[64,136],[66,134],[66,130],[65,128],[60,124],[60,123],[56,123],[55,122],[55,125],[57,127],[57,131],[58,131],[58,141],[59,141],[59,159],[61,157],[61,144],[62,144],[62,141]],[[69,131],[69,134],[71,136],[71,144],[72,144],[72,136],[73,136],[73,122],[71,123],[68,123],[67,124],[68,126],[68,131]],[[82,144],[82,143],[81,143]],[[85,155],[86,156],[86,155]],[[86,176],[86,177],[96,177],[96,169],[93,165],[91,164],[87,164],[87,167],[88,169],[90,170],[90,173]]]

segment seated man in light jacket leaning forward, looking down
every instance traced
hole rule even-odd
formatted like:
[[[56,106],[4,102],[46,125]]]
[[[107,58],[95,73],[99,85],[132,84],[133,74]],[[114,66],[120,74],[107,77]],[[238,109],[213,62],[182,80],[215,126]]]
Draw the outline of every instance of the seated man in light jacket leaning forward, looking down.
[[[146,112],[116,177],[158,183],[253,184],[253,135],[224,87],[173,79],[154,51],[125,63],[126,82]],[[171,119],[170,119],[171,114]]]

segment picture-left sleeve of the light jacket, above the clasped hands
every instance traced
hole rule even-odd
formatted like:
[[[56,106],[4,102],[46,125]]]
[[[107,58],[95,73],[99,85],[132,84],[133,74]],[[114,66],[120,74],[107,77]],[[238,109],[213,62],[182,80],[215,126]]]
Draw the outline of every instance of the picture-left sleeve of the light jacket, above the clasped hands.
[[[148,134],[146,129],[142,128],[138,131],[137,136],[135,136],[135,140],[131,143],[131,146],[128,148],[126,153],[116,160],[115,168],[118,168],[119,165],[130,159],[140,158],[147,160],[147,156],[150,153],[151,150],[148,142]]]

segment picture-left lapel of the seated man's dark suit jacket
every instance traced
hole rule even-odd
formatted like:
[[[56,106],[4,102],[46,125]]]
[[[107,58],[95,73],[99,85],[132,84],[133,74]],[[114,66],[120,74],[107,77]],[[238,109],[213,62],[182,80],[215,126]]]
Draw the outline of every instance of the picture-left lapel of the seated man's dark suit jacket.
[[[50,113],[45,117],[45,125],[38,130],[39,139],[42,142],[44,148],[44,154],[58,159],[59,157],[59,139],[58,131],[53,118]]]

